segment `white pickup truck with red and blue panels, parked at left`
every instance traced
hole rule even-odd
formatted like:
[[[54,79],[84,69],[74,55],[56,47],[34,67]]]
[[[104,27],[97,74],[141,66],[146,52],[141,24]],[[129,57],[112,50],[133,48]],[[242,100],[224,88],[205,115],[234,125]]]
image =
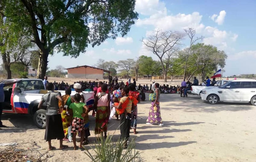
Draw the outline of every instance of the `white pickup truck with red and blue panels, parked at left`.
[[[1,83],[14,82],[20,79],[3,80]],[[65,91],[59,91],[65,95]],[[92,108],[94,104],[94,92],[83,91],[86,94],[86,105]],[[5,101],[3,113],[19,113],[33,115],[33,121],[38,128],[45,128],[46,104],[38,110],[38,104],[42,95],[47,93],[42,79],[22,79],[12,86],[4,87]],[[71,95],[76,92],[72,91]]]

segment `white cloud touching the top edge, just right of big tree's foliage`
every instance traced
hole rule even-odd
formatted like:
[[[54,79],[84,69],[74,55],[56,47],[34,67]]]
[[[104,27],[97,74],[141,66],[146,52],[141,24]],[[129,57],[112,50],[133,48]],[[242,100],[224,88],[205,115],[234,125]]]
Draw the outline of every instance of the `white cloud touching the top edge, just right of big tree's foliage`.
[[[135,11],[142,15],[152,15],[164,10],[165,4],[159,0],[136,0]]]

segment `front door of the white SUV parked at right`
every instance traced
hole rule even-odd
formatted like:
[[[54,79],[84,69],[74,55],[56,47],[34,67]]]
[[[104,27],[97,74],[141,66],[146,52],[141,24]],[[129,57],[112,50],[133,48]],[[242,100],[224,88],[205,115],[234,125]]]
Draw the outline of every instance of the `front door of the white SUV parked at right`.
[[[230,82],[223,89],[223,101],[240,101],[241,82]]]

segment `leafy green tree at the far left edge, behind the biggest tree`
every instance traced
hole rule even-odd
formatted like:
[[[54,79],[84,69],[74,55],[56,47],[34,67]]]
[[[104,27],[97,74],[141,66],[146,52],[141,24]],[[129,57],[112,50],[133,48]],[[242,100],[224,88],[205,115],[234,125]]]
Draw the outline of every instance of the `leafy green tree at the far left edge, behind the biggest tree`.
[[[2,1],[1,1],[2,2]],[[0,53],[7,79],[11,79],[11,64],[20,62],[30,66],[36,54],[36,48],[30,37],[23,33],[22,27],[16,28],[5,16],[6,6],[0,4]]]

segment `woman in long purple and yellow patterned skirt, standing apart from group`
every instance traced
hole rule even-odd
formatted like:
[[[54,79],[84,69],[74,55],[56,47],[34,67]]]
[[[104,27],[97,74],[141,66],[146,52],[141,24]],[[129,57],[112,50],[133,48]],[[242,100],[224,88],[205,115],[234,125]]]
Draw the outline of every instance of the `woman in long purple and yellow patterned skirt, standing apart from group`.
[[[155,99],[155,101],[152,101],[152,103],[151,103],[151,107],[150,107],[150,110],[149,110],[148,119],[147,119],[146,124],[152,125],[152,124],[158,124],[159,123],[158,125],[164,126],[162,118],[161,118],[161,113],[160,113],[159,83],[155,83],[154,93],[156,93],[156,99]]]

